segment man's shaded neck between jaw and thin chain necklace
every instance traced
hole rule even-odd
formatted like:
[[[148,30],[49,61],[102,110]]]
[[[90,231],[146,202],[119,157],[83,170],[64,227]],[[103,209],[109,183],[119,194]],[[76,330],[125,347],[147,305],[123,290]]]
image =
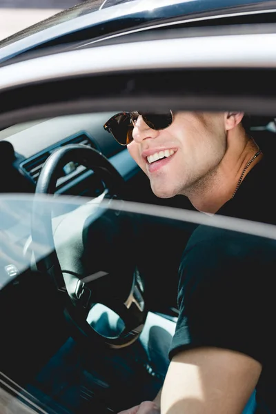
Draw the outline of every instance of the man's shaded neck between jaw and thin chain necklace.
[[[239,191],[248,172],[262,159],[262,153],[253,159],[258,151],[253,139],[248,139],[239,153],[226,150],[217,168],[188,188],[185,195],[197,210],[216,213]]]

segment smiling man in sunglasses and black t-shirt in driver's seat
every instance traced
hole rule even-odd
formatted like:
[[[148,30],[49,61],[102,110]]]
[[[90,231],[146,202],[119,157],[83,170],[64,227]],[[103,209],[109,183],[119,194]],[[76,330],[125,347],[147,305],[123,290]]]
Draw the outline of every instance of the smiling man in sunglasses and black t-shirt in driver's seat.
[[[272,220],[266,157],[246,134],[242,112],[125,115],[128,128],[120,129],[118,118],[105,128],[128,144],[157,197],[184,195],[210,215]],[[275,270],[275,246],[262,250],[261,242],[229,233],[199,226],[191,237],[179,268],[179,319],[164,386],[154,402],[121,414],[242,413],[256,386],[256,411],[247,412],[276,412],[268,366],[275,367],[273,298],[269,284],[266,290],[253,278]]]

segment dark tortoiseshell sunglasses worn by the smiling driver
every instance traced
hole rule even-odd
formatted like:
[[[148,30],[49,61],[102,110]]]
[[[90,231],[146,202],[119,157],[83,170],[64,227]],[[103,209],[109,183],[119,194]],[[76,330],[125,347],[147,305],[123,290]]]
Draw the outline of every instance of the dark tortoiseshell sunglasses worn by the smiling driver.
[[[110,132],[117,142],[121,145],[128,145],[133,141],[132,131],[135,127],[137,119],[141,115],[145,124],[153,130],[163,130],[172,124],[172,111],[166,113],[152,113],[152,112],[119,112],[114,115],[103,129]]]

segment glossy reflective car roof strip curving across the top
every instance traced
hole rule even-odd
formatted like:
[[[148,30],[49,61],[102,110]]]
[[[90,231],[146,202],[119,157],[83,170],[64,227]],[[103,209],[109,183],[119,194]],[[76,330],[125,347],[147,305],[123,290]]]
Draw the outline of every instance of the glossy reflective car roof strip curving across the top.
[[[41,46],[161,23],[276,11],[275,0],[88,0],[0,41],[0,62]]]

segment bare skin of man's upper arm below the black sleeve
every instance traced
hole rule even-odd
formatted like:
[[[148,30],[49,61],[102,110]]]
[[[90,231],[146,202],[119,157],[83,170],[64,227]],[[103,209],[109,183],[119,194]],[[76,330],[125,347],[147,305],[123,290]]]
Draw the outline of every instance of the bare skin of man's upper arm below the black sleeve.
[[[242,413],[261,371],[259,362],[235,351],[181,351],[172,358],[166,375],[161,413]]]

